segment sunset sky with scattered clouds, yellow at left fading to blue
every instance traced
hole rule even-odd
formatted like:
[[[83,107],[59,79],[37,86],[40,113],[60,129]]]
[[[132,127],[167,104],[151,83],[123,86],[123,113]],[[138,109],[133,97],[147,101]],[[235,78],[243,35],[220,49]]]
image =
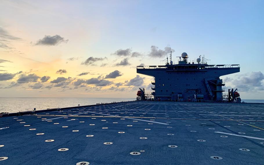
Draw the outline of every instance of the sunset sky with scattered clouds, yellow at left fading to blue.
[[[220,78],[264,99],[264,1],[0,0],[0,97],[135,98],[138,65],[205,55]]]

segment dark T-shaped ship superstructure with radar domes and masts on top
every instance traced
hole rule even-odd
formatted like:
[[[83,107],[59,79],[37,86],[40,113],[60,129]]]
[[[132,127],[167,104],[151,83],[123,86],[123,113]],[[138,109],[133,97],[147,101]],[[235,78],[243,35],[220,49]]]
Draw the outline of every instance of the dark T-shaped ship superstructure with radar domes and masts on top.
[[[137,66],[137,73],[154,77],[151,89],[155,100],[222,101],[225,83],[220,76],[240,71],[239,64],[209,65],[204,58],[190,63],[185,52],[179,58],[178,64],[167,61],[166,65]]]

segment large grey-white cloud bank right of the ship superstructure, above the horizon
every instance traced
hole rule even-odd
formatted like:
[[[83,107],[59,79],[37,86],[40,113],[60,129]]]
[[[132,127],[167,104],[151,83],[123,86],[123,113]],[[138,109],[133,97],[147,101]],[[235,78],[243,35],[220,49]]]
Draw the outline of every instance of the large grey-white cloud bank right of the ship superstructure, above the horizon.
[[[232,84],[238,88],[238,91],[262,91],[264,90],[264,75],[261,71],[240,74],[237,79],[232,81]]]

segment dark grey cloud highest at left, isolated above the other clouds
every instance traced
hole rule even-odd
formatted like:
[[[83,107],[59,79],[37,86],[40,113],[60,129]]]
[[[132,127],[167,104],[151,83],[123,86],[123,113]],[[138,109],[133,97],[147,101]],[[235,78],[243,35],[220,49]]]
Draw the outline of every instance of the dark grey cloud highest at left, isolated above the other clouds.
[[[54,36],[45,35],[45,37],[38,40],[35,45],[55,46],[62,42],[67,43],[68,41],[69,40],[64,40],[64,38],[61,37],[60,35],[54,35]]]

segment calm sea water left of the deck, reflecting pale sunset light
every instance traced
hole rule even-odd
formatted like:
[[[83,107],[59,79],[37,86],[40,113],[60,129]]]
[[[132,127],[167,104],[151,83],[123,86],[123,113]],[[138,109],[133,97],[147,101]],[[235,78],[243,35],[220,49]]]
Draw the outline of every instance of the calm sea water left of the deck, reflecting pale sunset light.
[[[47,108],[63,108],[96,103],[111,103],[121,101],[134,101],[135,98],[25,98],[25,97],[0,97],[1,112],[19,112],[33,110],[45,110]]]

